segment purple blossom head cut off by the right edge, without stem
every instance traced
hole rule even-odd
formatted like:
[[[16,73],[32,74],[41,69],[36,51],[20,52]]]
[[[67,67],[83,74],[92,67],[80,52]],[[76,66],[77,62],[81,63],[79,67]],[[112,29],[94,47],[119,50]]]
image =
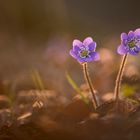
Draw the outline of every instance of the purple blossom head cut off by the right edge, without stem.
[[[121,34],[121,45],[118,47],[117,52],[121,55],[130,53],[137,55],[140,51],[140,28],[135,31],[130,31],[128,34]]]

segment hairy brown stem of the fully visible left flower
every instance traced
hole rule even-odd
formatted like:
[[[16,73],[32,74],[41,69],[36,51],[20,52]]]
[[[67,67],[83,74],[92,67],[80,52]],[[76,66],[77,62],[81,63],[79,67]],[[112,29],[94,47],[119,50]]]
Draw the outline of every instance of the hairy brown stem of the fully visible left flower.
[[[83,72],[84,72],[84,77],[85,77],[85,80],[89,86],[89,89],[92,93],[92,97],[93,97],[93,105],[94,105],[94,108],[96,109],[98,107],[98,103],[97,103],[97,100],[96,100],[96,96],[95,96],[95,90],[92,86],[92,83],[91,83],[91,79],[89,77],[89,73],[88,73],[88,65],[87,63],[84,63],[83,64]]]

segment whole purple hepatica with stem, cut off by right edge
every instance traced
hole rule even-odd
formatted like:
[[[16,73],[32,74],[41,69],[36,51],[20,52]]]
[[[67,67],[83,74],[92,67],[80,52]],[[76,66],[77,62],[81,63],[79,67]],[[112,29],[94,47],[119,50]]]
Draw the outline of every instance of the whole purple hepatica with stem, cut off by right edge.
[[[120,94],[120,86],[122,81],[122,76],[124,73],[125,64],[127,62],[128,54],[137,55],[140,51],[140,28],[135,31],[130,31],[128,34],[121,34],[121,45],[118,47],[117,52],[123,55],[119,72],[116,78],[115,84],[115,100],[118,102]]]

